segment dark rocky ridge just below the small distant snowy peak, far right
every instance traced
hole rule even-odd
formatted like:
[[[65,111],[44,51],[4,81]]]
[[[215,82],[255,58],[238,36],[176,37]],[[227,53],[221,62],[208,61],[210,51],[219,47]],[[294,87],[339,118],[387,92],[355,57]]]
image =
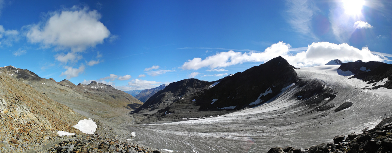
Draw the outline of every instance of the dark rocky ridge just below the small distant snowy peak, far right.
[[[343,63],[338,68],[338,74],[343,76],[351,76],[353,74],[360,74],[370,70],[374,70],[376,67],[385,63],[379,61],[368,61],[363,62],[361,60],[355,62]]]

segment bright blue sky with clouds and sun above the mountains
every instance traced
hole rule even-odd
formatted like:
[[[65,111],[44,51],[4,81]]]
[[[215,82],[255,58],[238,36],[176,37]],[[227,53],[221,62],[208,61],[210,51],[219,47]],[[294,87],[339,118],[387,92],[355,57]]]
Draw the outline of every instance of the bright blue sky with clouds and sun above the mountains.
[[[391,22],[389,0],[0,0],[0,67],[143,90],[278,56],[391,63]]]

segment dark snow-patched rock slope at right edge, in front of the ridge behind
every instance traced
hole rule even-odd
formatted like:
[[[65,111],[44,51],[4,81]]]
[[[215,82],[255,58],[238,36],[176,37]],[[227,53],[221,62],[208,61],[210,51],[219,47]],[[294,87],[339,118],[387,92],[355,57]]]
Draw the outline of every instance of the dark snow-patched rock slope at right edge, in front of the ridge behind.
[[[369,86],[373,86],[371,89],[380,87],[392,89],[392,64],[381,64],[371,71],[356,74],[351,78],[367,81]]]

